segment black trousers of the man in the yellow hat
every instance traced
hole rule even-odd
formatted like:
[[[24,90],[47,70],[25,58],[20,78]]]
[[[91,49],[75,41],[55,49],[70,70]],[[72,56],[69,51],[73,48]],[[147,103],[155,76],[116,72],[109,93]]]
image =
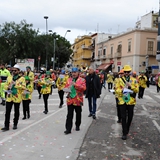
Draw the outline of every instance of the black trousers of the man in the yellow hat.
[[[130,125],[134,114],[134,105],[127,105],[126,103],[120,106],[121,117],[122,117],[122,132],[123,135],[129,133]]]

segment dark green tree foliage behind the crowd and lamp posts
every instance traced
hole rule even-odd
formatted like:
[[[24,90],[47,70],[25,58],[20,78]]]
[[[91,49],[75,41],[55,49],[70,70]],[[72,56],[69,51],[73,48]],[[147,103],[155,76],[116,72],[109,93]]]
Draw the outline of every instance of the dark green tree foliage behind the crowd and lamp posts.
[[[34,30],[32,27],[33,25],[27,24],[25,20],[22,20],[20,24],[6,22],[0,25],[0,60],[13,65],[15,58],[33,58],[36,67],[38,56],[41,57],[40,64],[45,64],[47,57],[48,68],[50,68],[54,52],[54,38],[56,38],[55,56],[58,59],[56,66],[63,67],[72,53],[71,44],[60,35],[40,35],[39,30]]]

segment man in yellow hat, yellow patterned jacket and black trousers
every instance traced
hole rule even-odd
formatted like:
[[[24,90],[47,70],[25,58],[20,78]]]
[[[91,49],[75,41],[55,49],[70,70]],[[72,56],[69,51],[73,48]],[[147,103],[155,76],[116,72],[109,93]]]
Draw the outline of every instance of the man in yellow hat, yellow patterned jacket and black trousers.
[[[136,104],[136,93],[139,91],[137,80],[130,75],[131,70],[129,65],[125,65],[123,68],[124,76],[119,78],[119,82],[115,86],[122,118],[122,140],[127,139]]]

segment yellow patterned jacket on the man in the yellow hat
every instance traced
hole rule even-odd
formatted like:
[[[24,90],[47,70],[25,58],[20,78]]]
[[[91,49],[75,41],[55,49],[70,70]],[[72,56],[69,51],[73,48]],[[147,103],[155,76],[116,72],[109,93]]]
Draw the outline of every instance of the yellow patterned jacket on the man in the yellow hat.
[[[122,80],[123,79],[123,80]],[[135,78],[130,77],[129,83],[131,84],[131,89],[133,93],[129,93],[129,101],[125,102],[124,100],[124,94],[123,89],[126,88],[127,81],[125,80],[125,77],[119,78],[118,83],[116,83],[115,86],[115,94],[118,98],[118,104],[123,105],[126,103],[127,105],[135,105],[136,104],[136,93],[139,92],[139,85]]]

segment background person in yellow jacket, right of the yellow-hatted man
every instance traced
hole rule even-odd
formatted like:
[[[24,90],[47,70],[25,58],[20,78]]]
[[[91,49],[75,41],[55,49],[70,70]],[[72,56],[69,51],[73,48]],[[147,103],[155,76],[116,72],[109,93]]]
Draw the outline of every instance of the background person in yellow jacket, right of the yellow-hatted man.
[[[140,73],[138,76],[138,83],[139,83],[139,93],[138,98],[143,98],[144,90],[147,87],[147,77],[144,75],[144,71]]]

